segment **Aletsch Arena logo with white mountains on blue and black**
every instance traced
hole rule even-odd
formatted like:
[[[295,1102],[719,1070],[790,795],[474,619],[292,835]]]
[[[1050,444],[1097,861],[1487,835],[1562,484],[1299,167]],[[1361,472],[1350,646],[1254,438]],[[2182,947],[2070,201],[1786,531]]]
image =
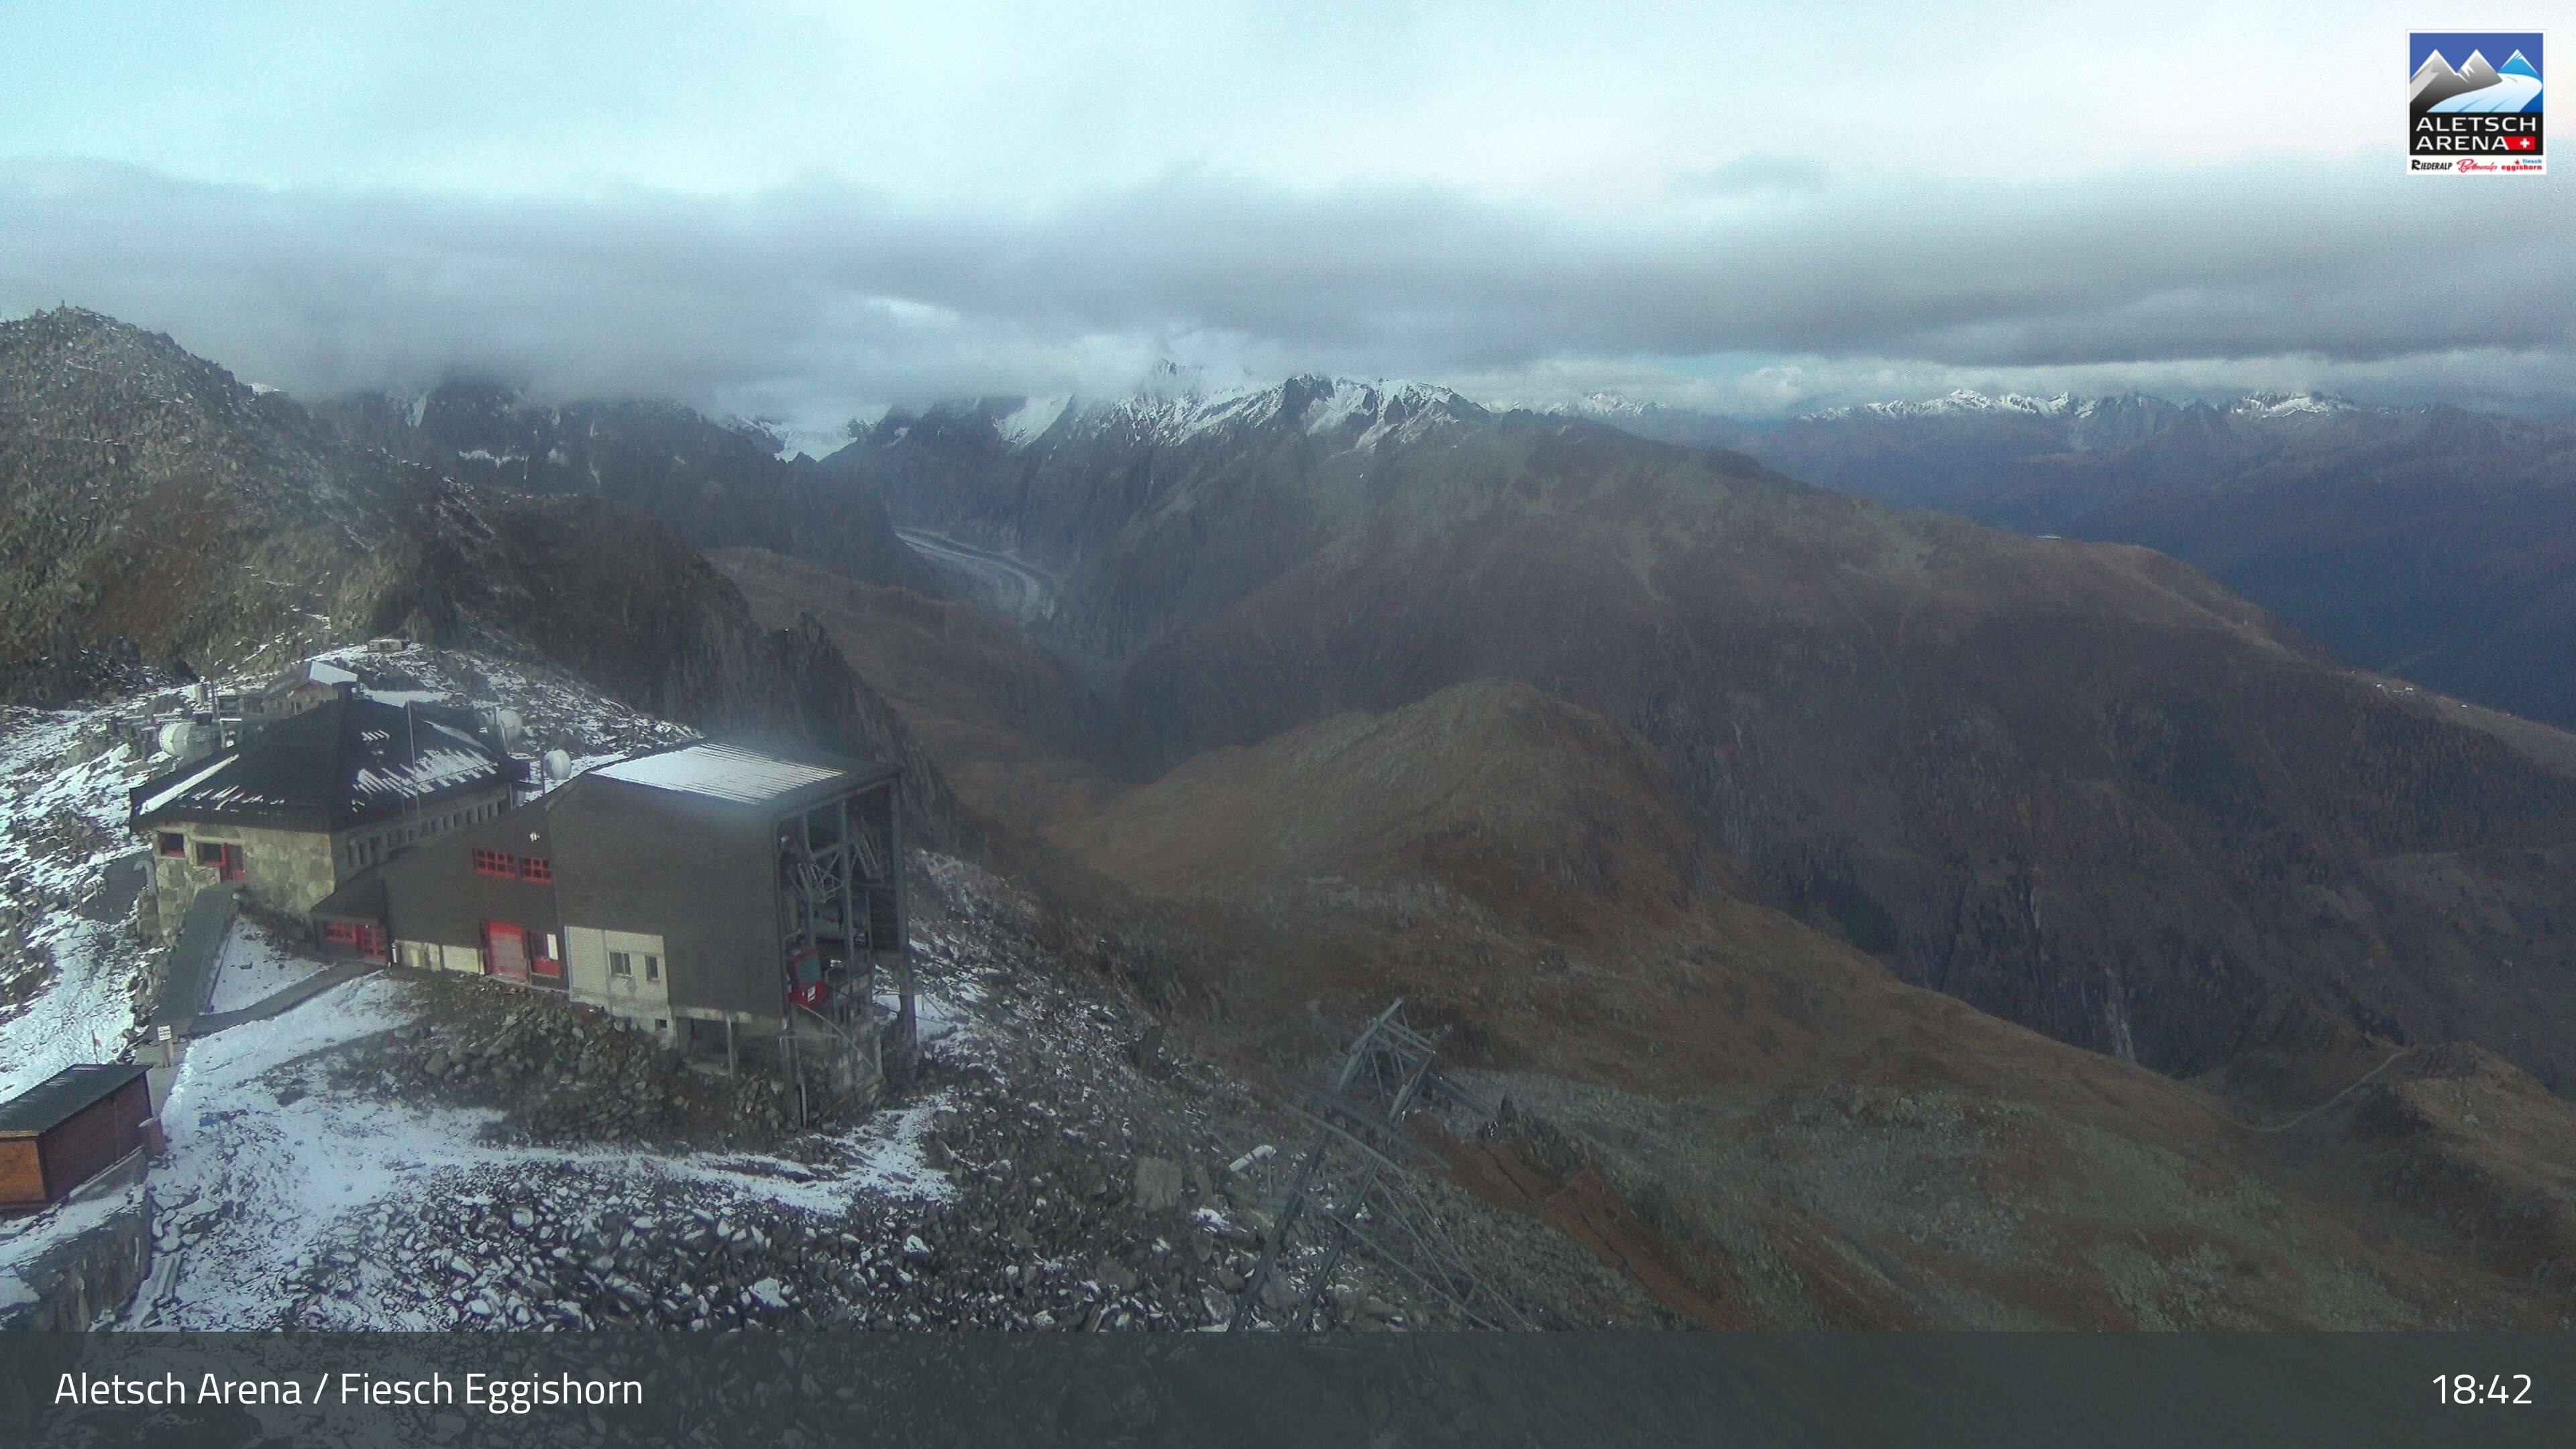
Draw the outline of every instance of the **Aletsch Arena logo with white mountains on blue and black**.
[[[2540,31],[2406,36],[2406,170],[2543,175]]]

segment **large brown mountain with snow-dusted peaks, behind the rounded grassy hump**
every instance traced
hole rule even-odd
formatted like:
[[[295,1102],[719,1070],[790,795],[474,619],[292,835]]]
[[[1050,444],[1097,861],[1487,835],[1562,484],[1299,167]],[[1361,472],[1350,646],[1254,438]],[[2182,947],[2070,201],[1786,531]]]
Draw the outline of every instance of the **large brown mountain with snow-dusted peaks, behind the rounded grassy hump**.
[[[827,467],[1061,580],[1041,634],[1113,663],[1128,779],[1525,681],[1646,740],[1757,900],[2066,1042],[2200,1073],[2468,1036],[2576,1080],[2563,755],[2166,557],[1419,387],[1012,418]],[[2512,905],[2470,928],[2455,892]]]

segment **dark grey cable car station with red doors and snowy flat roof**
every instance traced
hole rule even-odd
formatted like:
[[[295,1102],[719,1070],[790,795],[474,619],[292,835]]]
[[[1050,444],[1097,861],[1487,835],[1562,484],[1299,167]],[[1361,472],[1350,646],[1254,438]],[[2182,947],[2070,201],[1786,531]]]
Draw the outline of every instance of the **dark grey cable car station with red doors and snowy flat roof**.
[[[562,993],[701,1062],[752,1055],[848,1096],[881,1075],[881,964],[912,1026],[899,773],[649,750],[399,851],[309,915],[335,951]]]

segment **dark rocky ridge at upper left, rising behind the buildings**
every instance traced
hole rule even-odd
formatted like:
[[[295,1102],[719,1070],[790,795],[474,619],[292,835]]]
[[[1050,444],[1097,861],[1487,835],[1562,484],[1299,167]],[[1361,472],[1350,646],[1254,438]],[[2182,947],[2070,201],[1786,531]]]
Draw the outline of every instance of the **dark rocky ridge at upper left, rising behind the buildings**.
[[[667,526],[358,446],[95,312],[0,322],[0,657],[36,704],[142,673],[283,665],[379,634],[546,660],[613,699],[909,766],[953,797],[817,629],[762,629]]]

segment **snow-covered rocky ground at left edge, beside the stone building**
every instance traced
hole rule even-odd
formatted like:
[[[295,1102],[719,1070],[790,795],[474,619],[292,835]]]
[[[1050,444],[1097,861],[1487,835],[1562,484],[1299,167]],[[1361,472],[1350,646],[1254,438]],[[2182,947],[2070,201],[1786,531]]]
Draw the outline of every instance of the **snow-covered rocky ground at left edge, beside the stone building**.
[[[149,771],[124,745],[90,753],[103,719],[100,709],[0,719],[0,897],[23,931],[21,949],[0,957],[0,1098],[75,1062],[121,1057],[134,1029],[142,951],[118,923],[80,913],[111,864],[142,856],[124,828],[126,789]]]

